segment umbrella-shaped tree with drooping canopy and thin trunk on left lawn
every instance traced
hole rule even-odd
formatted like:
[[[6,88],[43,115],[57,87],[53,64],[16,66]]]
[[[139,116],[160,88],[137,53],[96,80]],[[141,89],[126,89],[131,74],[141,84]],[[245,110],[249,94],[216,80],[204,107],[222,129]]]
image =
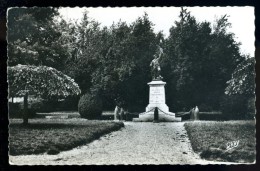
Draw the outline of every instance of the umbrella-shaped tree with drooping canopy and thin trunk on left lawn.
[[[8,67],[9,97],[24,97],[23,123],[28,124],[28,95],[64,98],[80,94],[77,83],[62,72],[47,66]]]

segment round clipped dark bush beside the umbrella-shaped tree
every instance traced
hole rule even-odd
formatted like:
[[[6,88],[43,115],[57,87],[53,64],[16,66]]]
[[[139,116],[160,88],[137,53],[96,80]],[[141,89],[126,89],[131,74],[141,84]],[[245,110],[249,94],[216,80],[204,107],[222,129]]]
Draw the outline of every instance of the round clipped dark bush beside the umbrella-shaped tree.
[[[90,93],[83,95],[78,103],[79,114],[86,119],[99,119],[102,115],[102,100]]]

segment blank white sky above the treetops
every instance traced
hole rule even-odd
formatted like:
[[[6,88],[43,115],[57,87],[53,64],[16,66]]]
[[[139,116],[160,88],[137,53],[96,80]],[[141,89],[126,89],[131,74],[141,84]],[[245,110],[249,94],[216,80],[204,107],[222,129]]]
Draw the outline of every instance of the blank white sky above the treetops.
[[[118,7],[118,8],[62,8],[61,15],[65,19],[80,20],[82,12],[87,10],[89,17],[101,23],[101,26],[111,26],[113,22],[134,22],[147,12],[150,21],[154,24],[154,31],[163,31],[167,37],[174,21],[179,20],[180,7]],[[241,52],[254,56],[255,25],[254,7],[188,7],[188,11],[197,21],[213,22],[222,15],[229,15],[236,41],[241,42]]]

